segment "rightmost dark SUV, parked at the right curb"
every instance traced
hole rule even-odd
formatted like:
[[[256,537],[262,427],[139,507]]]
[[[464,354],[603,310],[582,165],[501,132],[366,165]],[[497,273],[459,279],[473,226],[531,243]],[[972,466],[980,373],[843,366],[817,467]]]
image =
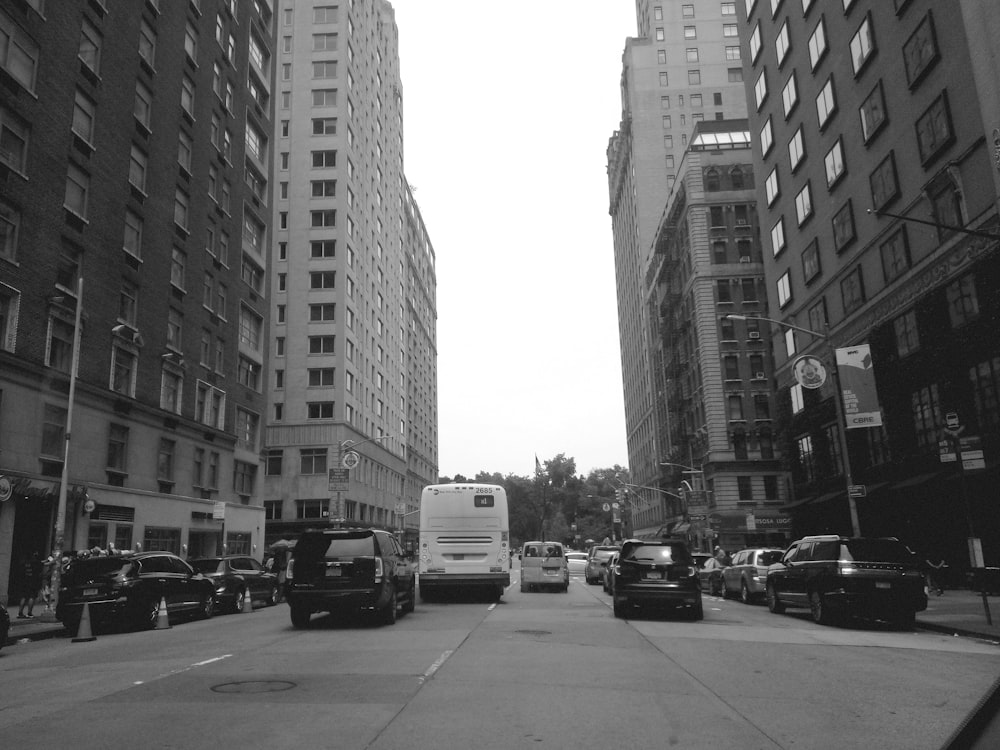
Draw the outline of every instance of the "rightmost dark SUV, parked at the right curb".
[[[808,607],[823,625],[861,616],[909,628],[927,609],[919,560],[892,538],[803,537],[768,568],[766,595],[772,612]]]

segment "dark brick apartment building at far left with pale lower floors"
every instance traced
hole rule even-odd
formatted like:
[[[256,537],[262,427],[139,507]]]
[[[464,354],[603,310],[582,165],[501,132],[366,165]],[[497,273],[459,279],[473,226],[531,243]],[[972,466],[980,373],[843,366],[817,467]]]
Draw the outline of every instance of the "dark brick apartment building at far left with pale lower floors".
[[[0,2],[0,596],[60,527],[263,551],[273,26],[269,0]]]

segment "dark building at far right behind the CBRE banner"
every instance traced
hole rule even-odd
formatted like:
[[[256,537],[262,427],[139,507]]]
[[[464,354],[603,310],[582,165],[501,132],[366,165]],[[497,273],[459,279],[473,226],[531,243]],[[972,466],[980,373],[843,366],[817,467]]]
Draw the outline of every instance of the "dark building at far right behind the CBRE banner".
[[[796,530],[997,565],[1000,8],[746,0],[739,23]],[[862,345],[879,416],[843,429],[794,364]]]

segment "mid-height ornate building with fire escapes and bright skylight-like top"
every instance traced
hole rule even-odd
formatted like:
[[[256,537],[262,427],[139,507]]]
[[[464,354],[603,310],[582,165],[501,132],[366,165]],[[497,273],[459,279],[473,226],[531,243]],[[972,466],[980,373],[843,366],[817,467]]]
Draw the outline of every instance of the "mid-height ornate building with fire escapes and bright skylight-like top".
[[[746,120],[699,123],[657,231],[650,302],[672,452],[674,534],[710,551],[789,541]],[[746,319],[745,321],[743,319]]]

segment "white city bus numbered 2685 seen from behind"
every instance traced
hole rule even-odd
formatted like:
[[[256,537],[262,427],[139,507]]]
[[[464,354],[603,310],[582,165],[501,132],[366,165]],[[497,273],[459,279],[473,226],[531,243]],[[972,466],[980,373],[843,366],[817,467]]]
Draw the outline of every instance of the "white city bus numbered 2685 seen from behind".
[[[480,587],[499,601],[510,585],[507,492],[495,484],[432,484],[420,497],[420,598]]]

